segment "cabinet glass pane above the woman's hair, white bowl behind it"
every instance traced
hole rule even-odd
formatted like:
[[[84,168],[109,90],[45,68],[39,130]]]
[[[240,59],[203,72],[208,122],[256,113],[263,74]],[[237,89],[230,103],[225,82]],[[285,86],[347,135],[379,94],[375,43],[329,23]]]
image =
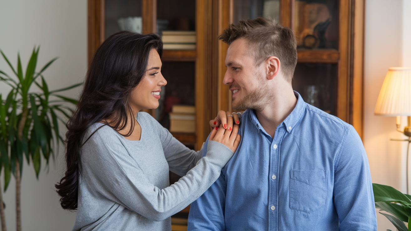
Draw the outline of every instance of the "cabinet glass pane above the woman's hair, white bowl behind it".
[[[141,0],[105,0],[105,37],[122,30],[141,33]]]

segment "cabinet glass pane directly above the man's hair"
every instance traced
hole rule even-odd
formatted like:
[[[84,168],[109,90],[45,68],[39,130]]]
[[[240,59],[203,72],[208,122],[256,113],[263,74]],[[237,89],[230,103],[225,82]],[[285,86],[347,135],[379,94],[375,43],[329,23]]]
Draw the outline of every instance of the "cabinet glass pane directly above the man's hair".
[[[234,0],[234,24],[243,19],[256,19],[258,17],[279,21],[279,15],[279,0]]]

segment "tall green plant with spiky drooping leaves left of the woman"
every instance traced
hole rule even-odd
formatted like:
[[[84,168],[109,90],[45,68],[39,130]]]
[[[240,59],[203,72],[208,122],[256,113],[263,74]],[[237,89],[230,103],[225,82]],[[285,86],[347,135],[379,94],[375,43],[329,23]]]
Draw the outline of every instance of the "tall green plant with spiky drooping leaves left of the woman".
[[[58,95],[58,92],[80,86],[81,83],[50,91],[43,72],[57,58],[53,58],[37,72],[39,47],[34,47],[25,72],[19,54],[17,66],[14,68],[1,50],[0,53],[16,76],[12,78],[0,70],[0,82],[11,87],[7,95],[0,93],[0,170],[4,168],[4,191],[12,174],[16,179],[16,230],[21,231],[20,180],[23,160],[25,158],[28,164],[32,163],[37,178],[42,157],[46,160],[46,165],[50,156],[54,160],[62,142],[58,120],[65,123],[62,117],[71,116],[72,109],[67,106],[67,102],[77,103],[77,100]],[[37,85],[41,92],[31,92],[30,87],[33,84]],[[51,96],[54,96],[52,100]],[[0,201],[3,201],[1,186]],[[6,231],[3,203],[0,203],[0,221],[2,231]]]

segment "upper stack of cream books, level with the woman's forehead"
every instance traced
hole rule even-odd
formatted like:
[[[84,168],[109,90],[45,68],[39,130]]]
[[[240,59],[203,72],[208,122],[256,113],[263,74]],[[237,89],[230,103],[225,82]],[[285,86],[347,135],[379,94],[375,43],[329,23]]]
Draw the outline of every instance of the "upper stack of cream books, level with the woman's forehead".
[[[180,30],[163,30],[163,49],[194,50],[196,49],[196,32]]]

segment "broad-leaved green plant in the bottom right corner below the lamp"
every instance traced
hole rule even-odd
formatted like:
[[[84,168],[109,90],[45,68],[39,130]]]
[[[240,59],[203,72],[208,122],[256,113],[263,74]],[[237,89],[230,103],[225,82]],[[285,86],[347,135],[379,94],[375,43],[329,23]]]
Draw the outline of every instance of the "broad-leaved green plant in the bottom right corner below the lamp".
[[[372,184],[372,189],[375,208],[389,212],[390,214],[380,213],[386,216],[399,231],[411,231],[411,226],[408,225],[407,228],[404,224],[404,222],[409,224],[411,220],[411,196],[382,184]]]

